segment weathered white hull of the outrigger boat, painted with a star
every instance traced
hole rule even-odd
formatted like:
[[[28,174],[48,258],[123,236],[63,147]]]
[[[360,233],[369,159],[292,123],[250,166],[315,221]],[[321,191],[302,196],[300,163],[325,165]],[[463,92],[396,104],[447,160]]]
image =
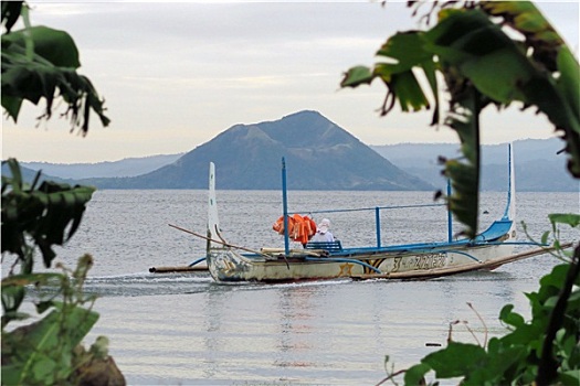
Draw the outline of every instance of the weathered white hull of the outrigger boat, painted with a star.
[[[513,245],[508,244],[447,247],[424,253],[375,253],[356,258],[300,256],[286,259],[283,257],[266,259],[222,248],[211,250],[208,266],[213,279],[220,282],[319,280],[369,275],[394,277],[408,272],[437,277],[449,272],[450,269],[485,268],[487,261],[512,255]]]

